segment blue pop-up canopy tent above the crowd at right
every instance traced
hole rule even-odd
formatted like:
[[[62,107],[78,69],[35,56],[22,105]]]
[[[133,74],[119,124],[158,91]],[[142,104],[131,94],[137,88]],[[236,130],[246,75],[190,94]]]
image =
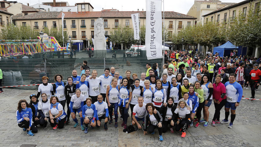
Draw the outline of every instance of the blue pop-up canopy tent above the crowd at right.
[[[223,45],[220,45],[218,47],[214,47],[213,54],[215,54],[217,52],[220,57],[229,56],[230,50],[232,50],[232,49],[238,49],[238,47],[233,45],[231,42],[228,41]]]

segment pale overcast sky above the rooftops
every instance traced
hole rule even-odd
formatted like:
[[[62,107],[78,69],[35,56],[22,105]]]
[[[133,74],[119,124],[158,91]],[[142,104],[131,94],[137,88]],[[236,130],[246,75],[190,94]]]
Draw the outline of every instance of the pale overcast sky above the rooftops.
[[[53,0],[17,0],[19,3],[27,5],[34,5],[36,3],[51,2]],[[119,11],[140,11],[146,10],[146,0],[56,0],[56,1],[68,1],[70,5],[75,3],[89,2],[93,7],[94,11],[101,11],[104,9],[117,9]],[[222,2],[239,3],[243,0],[221,0]],[[174,11],[182,14],[187,14],[191,6],[194,4],[193,0],[164,0],[164,10]],[[162,3],[163,11],[163,3]]]

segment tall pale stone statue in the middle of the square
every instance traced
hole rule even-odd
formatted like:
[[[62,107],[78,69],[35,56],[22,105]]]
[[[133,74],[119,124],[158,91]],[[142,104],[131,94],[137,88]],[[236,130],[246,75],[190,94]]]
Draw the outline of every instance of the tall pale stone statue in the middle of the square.
[[[104,31],[104,21],[103,18],[98,18],[94,22],[94,49],[95,50],[106,50],[106,39]]]

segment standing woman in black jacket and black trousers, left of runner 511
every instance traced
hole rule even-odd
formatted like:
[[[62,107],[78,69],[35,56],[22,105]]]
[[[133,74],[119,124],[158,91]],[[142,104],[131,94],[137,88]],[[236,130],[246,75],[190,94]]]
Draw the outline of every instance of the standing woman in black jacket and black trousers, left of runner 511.
[[[71,102],[71,97],[72,95],[75,94],[75,89],[76,89],[76,84],[73,83],[73,78],[72,77],[68,77],[67,78],[67,84],[64,87],[64,93],[65,93],[65,98],[66,98],[66,104],[67,104],[67,121],[66,124],[70,123],[70,109],[69,109],[69,105]]]

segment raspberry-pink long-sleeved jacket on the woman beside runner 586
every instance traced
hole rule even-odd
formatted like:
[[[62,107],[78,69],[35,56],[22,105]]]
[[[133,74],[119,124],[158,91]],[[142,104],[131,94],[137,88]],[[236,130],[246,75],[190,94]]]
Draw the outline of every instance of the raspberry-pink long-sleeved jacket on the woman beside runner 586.
[[[226,87],[223,83],[219,82],[218,85],[216,85],[216,82],[213,83],[213,98],[218,101],[222,101],[226,99],[226,95],[224,98],[221,98],[221,94],[226,93]]]

